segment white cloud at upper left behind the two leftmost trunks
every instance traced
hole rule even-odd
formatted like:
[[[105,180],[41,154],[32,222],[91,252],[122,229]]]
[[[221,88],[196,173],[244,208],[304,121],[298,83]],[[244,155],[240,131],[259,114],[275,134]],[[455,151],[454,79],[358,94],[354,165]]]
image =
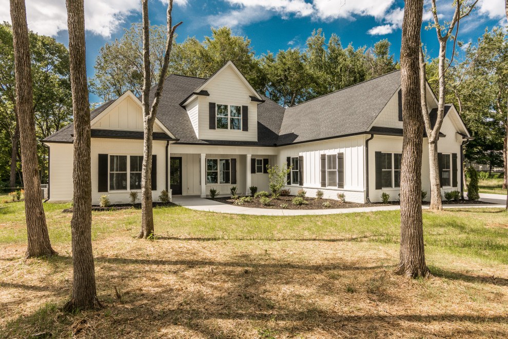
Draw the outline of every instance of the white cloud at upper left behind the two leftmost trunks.
[[[163,3],[167,0],[161,0]],[[174,0],[185,6],[187,0]],[[43,35],[56,35],[67,30],[65,0],[27,1],[28,28]],[[0,0],[0,22],[11,21],[9,0]],[[109,38],[125,22],[127,16],[140,13],[139,0],[87,0],[85,1],[85,29],[93,34]]]

